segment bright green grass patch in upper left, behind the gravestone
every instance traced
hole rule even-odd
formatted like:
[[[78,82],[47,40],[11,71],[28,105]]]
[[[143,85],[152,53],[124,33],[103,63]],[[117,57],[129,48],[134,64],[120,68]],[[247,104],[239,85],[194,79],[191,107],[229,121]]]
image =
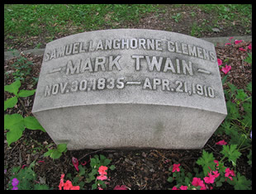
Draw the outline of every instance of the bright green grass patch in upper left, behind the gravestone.
[[[154,5],[143,4],[15,4],[4,6],[4,34],[9,39],[14,35],[49,35],[60,31],[93,31],[102,26],[116,26],[117,22],[138,22]],[[72,29],[70,29],[72,28]]]

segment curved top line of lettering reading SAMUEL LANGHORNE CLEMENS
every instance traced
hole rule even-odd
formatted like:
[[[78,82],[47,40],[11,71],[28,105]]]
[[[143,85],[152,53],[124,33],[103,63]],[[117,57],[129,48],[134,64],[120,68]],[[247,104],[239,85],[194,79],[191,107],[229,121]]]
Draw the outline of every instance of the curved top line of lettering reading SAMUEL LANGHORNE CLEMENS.
[[[44,61],[58,59],[73,54],[96,52],[99,50],[156,50],[159,52],[184,54],[198,59],[216,62],[216,54],[212,50],[206,50],[199,45],[189,45],[183,42],[146,38],[121,38],[106,40],[89,40],[74,42],[52,50],[46,50]]]

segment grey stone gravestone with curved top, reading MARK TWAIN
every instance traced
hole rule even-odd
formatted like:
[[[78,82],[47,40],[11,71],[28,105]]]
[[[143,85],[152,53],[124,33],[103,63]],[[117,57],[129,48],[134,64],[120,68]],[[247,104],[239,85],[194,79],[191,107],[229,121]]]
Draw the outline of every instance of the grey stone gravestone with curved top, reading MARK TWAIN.
[[[201,149],[227,115],[214,45],[142,29],[48,43],[32,112],[68,149]]]

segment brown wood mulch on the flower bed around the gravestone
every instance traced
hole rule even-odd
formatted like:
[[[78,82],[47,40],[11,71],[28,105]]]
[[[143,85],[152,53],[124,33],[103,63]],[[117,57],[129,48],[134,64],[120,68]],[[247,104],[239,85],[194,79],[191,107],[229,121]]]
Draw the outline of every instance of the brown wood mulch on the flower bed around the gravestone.
[[[239,47],[246,48],[251,42],[242,42],[240,45],[226,45],[225,47],[216,47],[216,54],[218,59],[229,59],[225,64],[231,65],[231,70],[228,73],[226,82],[233,83],[237,88],[246,88],[247,84],[252,81],[252,65],[244,62],[247,57],[246,52],[240,51]],[[42,56],[35,56],[33,54],[26,54],[26,59],[31,61],[31,73],[26,76],[25,80],[21,82],[21,89],[36,89],[36,83],[32,79],[38,78],[40,73],[40,65],[42,63]],[[12,67],[17,61],[10,59],[4,62],[4,85],[13,83],[12,72],[16,71]],[[6,73],[10,72],[10,73]],[[225,76],[220,71],[221,78]],[[226,84],[224,88],[226,88]],[[12,97],[12,94],[4,92],[4,100]],[[32,116],[31,109],[35,96],[22,98],[24,106],[17,102],[17,106],[12,109],[7,109],[5,114],[19,113],[22,116]],[[25,110],[26,109],[26,110]],[[7,131],[5,131],[6,133]],[[216,145],[217,141],[225,140],[229,142],[229,137],[226,135],[212,135],[211,139],[207,141],[205,149],[207,152],[214,154],[215,158],[219,160],[222,155],[220,151],[222,146]],[[71,162],[71,158],[75,157],[79,163],[83,163],[93,157],[94,154],[103,154],[108,159],[111,159],[111,164],[116,166],[113,171],[108,171],[110,177],[107,189],[111,190],[116,185],[126,185],[131,190],[164,190],[172,188],[173,184],[167,182],[168,168],[173,163],[181,163],[181,166],[186,172],[193,173],[193,168],[200,168],[196,161],[201,157],[202,149],[192,150],[175,150],[175,149],[135,149],[135,150],[92,150],[83,149],[78,151],[67,151],[60,159],[45,158],[43,154],[47,151],[46,145],[52,144],[53,141],[47,133],[39,130],[25,130],[21,139],[12,143],[12,147],[7,146],[6,135],[4,138],[4,166],[7,173],[4,174],[4,189],[7,189],[7,182],[11,176],[11,170],[15,166],[28,165],[34,160],[43,160],[45,163],[38,163],[35,167],[37,174],[37,181],[40,177],[45,178],[46,184],[54,189],[59,189],[59,179],[61,173],[71,173],[75,177],[75,168]],[[51,146],[55,147],[55,144]],[[244,175],[247,179],[252,179],[252,168],[248,165],[247,155],[249,149],[244,149],[242,155],[237,160],[237,172]],[[232,166],[231,163],[225,163],[226,166]],[[89,168],[89,163],[86,164]],[[91,189],[92,184],[85,184],[84,189]],[[214,189],[228,190],[234,189],[228,183],[224,183],[222,187],[215,187]]]

